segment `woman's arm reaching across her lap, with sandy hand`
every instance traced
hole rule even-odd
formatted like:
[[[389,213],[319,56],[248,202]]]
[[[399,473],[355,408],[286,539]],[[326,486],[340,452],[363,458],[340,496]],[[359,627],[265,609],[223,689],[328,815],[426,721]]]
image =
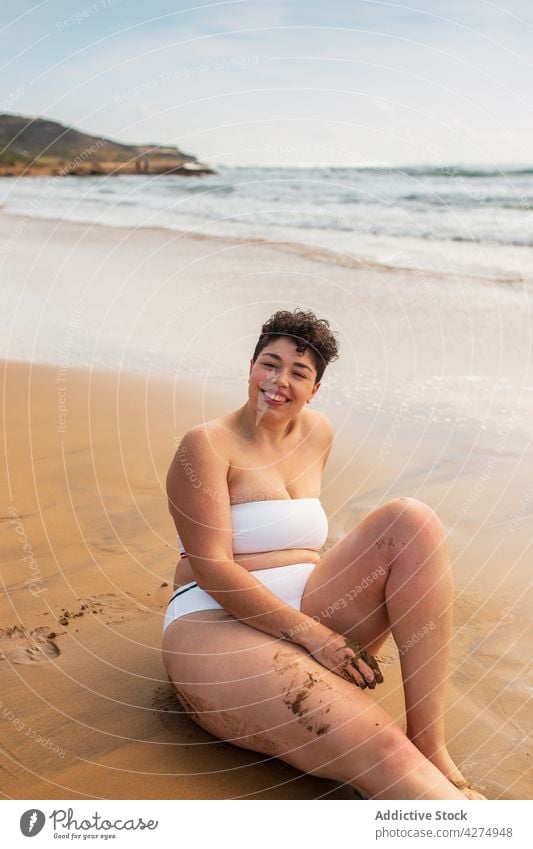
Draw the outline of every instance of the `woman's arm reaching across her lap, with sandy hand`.
[[[326,668],[365,686],[343,637],[285,604],[233,559],[229,461],[213,427],[189,431],[167,476],[169,509],[198,586],[236,619],[306,648]],[[364,666],[368,683],[373,672]]]

